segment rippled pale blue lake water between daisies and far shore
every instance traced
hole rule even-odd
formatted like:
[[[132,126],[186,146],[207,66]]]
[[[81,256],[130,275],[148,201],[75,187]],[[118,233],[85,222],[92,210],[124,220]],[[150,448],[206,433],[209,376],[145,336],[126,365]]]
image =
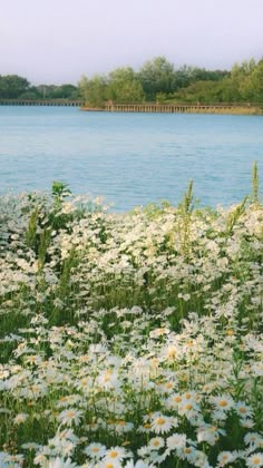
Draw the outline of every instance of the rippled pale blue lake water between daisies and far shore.
[[[114,202],[116,211],[168,199],[189,179],[202,205],[236,203],[263,175],[263,117],[85,113],[0,106],[0,193],[50,189]]]

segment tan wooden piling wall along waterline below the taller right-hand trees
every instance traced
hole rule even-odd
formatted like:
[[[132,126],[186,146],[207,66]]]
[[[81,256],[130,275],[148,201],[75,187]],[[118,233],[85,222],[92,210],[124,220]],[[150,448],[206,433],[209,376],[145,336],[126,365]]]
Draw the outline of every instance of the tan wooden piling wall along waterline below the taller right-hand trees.
[[[84,110],[89,110],[84,107]],[[263,115],[261,107],[252,105],[192,105],[192,104],[106,104],[108,113],[164,113],[164,114],[234,114]]]

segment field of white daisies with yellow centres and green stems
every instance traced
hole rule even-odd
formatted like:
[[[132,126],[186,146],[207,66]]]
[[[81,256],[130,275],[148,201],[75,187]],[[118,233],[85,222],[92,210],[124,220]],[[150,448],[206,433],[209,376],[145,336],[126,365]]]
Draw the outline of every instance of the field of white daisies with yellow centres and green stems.
[[[64,195],[0,199],[0,467],[263,466],[259,201]]]

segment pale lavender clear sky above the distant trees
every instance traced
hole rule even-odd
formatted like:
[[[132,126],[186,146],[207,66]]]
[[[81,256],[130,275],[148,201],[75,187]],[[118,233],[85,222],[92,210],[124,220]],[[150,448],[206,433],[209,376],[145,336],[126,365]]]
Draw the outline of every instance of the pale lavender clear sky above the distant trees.
[[[0,0],[0,75],[77,84],[117,67],[263,57],[263,0]]]

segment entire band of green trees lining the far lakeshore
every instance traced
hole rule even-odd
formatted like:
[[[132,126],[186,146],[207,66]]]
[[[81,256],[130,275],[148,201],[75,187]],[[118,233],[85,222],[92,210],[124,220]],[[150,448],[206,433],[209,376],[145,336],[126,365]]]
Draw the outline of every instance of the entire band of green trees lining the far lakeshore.
[[[263,59],[235,64],[228,70],[175,68],[155,57],[135,71],[120,67],[107,75],[82,76],[78,86],[31,86],[17,75],[0,76],[0,98],[81,99],[90,107],[114,103],[263,103]]]

